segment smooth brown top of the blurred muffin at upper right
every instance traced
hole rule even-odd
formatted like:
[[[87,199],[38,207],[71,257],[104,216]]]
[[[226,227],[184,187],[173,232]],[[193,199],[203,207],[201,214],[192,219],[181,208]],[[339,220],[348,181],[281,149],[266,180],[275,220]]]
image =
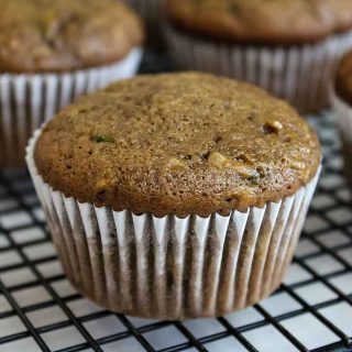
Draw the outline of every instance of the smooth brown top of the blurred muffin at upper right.
[[[302,44],[352,28],[352,0],[167,0],[180,28],[213,38]]]

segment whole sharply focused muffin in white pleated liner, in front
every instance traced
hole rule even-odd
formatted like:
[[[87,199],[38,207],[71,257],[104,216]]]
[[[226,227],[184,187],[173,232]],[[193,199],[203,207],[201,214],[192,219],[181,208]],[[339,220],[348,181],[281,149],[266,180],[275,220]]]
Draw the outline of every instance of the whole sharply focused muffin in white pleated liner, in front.
[[[35,133],[26,161],[73,285],[113,311],[174,320],[279,286],[320,157],[285,102],[189,73],[80,99]]]

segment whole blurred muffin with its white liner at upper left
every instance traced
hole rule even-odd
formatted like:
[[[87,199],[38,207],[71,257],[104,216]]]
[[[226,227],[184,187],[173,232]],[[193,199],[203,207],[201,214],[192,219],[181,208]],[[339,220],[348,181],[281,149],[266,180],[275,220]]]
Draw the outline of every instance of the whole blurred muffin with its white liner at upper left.
[[[141,20],[111,0],[0,0],[0,167],[76,97],[134,75]]]

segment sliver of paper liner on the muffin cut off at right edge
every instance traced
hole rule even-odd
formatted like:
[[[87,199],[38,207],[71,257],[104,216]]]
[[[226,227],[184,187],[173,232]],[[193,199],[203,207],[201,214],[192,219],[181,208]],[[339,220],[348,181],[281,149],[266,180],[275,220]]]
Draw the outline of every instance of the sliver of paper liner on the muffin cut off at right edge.
[[[333,89],[331,89],[331,103],[341,135],[344,172],[352,187],[352,107],[344,102]]]

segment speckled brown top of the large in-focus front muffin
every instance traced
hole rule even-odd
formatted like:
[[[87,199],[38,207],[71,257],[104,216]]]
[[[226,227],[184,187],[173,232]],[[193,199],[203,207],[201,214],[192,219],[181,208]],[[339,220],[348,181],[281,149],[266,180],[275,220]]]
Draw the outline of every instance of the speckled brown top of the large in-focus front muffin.
[[[293,195],[315,176],[320,147],[260,88],[184,73],[81,98],[45,127],[34,158],[44,182],[81,202],[206,217]]]

